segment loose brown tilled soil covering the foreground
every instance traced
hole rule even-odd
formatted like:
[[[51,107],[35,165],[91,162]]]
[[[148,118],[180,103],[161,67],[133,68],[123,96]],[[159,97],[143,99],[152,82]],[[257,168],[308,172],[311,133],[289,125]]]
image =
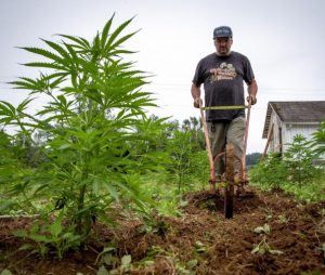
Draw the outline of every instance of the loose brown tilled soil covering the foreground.
[[[159,217],[146,231],[127,218],[114,230],[96,225],[92,240],[63,260],[17,251],[24,241],[12,232],[27,228],[30,219],[1,220],[0,271],[86,275],[105,263],[109,274],[325,274],[325,204],[302,205],[282,193],[256,191],[236,198],[234,218],[225,220],[221,197],[197,192],[186,200],[183,215]],[[268,234],[255,232],[264,224]],[[98,258],[112,244],[115,249]],[[251,252],[258,244],[263,254]],[[122,267],[126,254],[132,262]]]

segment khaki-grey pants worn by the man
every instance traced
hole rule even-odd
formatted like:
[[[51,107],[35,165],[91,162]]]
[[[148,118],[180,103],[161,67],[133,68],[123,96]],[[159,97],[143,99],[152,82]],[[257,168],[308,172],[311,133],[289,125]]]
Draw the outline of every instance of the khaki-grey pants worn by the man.
[[[229,122],[207,122],[213,157],[224,150],[226,143],[232,143],[235,147],[235,156],[242,158],[245,123],[246,119],[244,117],[237,117]],[[235,158],[235,171],[239,170],[240,161]],[[223,158],[220,158],[220,160],[216,163],[216,173],[221,175],[224,171],[224,160]]]

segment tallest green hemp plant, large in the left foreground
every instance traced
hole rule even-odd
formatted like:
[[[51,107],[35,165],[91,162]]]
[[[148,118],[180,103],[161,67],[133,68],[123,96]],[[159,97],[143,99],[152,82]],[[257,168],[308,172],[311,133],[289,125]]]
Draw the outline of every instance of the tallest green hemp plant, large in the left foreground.
[[[16,127],[32,143],[36,132],[46,133],[41,149],[47,161],[12,191],[28,194],[30,201],[48,198],[83,238],[94,219],[109,220],[114,201],[145,212],[151,201],[138,192],[140,175],[164,159],[144,149],[164,129],[164,119],[152,121],[144,110],[156,106],[142,91],[148,76],[122,58],[133,53],[122,48],[136,34],[122,35],[133,18],[116,29],[113,19],[92,41],[58,35],[60,42],[42,39],[47,49],[22,48],[46,58],[25,66],[50,73],[11,82],[29,91],[17,107],[0,102],[1,125]],[[30,114],[37,96],[49,101]]]

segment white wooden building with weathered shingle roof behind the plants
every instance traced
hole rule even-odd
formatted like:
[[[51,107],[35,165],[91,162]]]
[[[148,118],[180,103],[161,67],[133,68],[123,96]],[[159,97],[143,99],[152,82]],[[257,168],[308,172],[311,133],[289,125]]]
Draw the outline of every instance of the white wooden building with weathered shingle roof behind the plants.
[[[296,134],[310,139],[325,120],[325,101],[269,102],[263,129],[264,154],[284,153]]]

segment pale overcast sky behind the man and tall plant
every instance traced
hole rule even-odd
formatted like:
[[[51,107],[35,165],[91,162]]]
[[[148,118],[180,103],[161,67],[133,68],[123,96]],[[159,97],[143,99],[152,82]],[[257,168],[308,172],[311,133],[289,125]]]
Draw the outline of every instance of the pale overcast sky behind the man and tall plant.
[[[126,47],[139,51],[136,68],[155,75],[145,88],[157,99],[155,114],[198,117],[194,70],[214,52],[213,28],[229,25],[232,50],[250,60],[259,86],[248,153],[262,152],[268,102],[325,100],[324,11],[324,0],[0,0],[0,100],[20,102],[23,92],[3,82],[35,74],[18,63],[37,56],[15,47],[43,47],[39,38],[55,41],[55,34],[92,39],[116,12],[115,27],[136,15],[127,32],[141,30]]]

